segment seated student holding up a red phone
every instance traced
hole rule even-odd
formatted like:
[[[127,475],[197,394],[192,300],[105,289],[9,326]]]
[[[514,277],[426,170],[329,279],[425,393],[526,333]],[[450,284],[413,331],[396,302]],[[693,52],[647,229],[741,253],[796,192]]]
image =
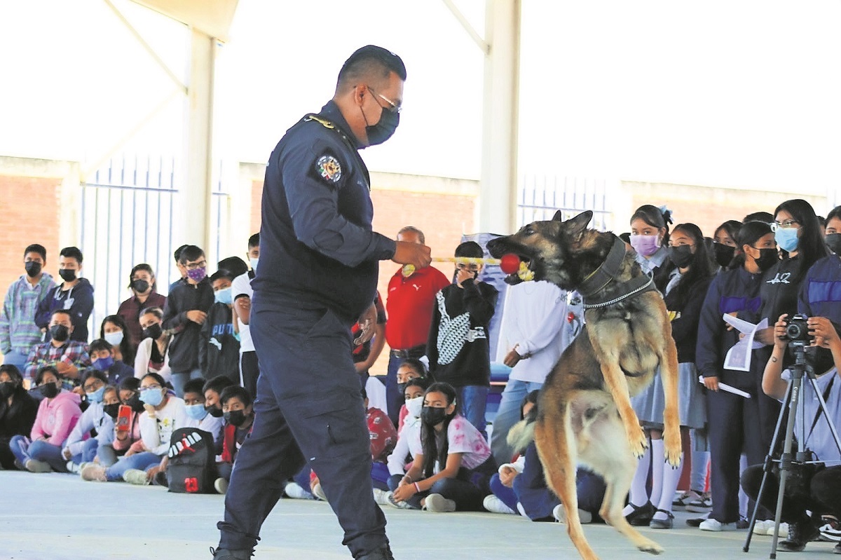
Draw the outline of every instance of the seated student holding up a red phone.
[[[114,420],[114,429],[97,436],[99,446],[96,462],[103,467],[110,467],[124,455],[133,455],[143,451],[140,440],[140,415],[144,412],[140,400],[140,379],[125,378],[119,383],[117,391],[119,404],[106,404],[105,413]],[[135,446],[135,449],[132,449]],[[79,469],[82,472],[82,468]]]

